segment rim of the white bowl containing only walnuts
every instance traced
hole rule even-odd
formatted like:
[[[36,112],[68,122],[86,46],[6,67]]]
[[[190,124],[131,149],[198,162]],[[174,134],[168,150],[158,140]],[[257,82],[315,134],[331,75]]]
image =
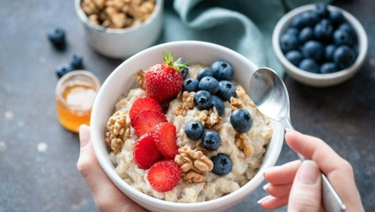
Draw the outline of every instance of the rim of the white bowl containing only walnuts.
[[[148,17],[144,22],[142,22],[138,26],[123,28],[123,29],[111,29],[111,28],[105,28],[100,25],[91,23],[91,21],[89,20],[89,17],[81,8],[81,1],[82,0],[75,0],[74,5],[75,5],[75,12],[78,15],[78,18],[80,18],[80,20],[82,21],[82,23],[99,32],[104,32],[108,34],[124,34],[127,32],[133,32],[133,31],[137,31],[141,29],[142,27],[150,24],[155,19],[155,17],[161,11],[161,8],[163,7],[163,3],[164,3],[164,0],[156,0],[154,11],[150,15],[150,17]]]

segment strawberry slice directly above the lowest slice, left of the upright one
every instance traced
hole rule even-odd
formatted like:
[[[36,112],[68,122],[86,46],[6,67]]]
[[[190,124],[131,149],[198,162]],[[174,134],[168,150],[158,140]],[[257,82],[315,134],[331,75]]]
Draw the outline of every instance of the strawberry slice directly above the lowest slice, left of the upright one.
[[[134,144],[134,161],[143,169],[149,169],[151,165],[159,161],[161,157],[162,153],[157,149],[152,134],[142,135]]]

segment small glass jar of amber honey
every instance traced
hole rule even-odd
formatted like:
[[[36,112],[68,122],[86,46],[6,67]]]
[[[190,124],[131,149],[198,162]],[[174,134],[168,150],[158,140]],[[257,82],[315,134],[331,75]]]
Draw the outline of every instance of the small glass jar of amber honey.
[[[87,71],[69,72],[58,81],[56,111],[64,128],[78,132],[80,125],[90,126],[91,109],[99,87],[98,78]]]

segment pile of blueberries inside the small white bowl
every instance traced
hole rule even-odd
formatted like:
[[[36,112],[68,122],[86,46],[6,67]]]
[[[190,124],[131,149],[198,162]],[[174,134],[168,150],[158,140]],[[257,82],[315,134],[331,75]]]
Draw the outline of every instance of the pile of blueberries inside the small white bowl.
[[[321,3],[297,15],[280,38],[285,57],[308,72],[327,74],[351,66],[357,57],[357,34],[339,11]]]

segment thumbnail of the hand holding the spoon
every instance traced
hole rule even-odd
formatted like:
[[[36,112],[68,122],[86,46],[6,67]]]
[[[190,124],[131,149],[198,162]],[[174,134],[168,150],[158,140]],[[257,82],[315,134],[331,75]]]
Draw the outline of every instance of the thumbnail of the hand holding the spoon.
[[[302,162],[298,171],[298,181],[300,183],[307,185],[315,184],[318,181],[319,176],[320,170],[314,161],[305,160]]]

